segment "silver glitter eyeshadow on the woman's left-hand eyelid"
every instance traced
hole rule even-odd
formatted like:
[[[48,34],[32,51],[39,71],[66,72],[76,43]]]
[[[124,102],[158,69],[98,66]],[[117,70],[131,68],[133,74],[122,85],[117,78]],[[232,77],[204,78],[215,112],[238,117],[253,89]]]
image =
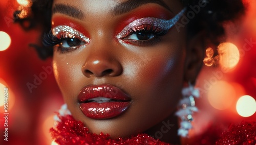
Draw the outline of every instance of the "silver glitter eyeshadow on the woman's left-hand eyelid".
[[[81,32],[73,29],[72,27],[60,25],[52,29],[53,35],[63,38],[78,38],[83,42],[89,43],[90,39],[84,36]]]

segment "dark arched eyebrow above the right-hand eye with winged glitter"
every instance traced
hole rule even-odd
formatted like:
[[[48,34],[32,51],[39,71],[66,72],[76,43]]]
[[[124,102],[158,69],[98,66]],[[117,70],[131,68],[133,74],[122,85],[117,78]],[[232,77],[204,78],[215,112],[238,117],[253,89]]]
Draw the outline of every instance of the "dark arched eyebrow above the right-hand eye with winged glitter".
[[[172,10],[170,10],[170,8],[162,0],[129,0],[115,6],[111,12],[113,15],[121,15],[149,3],[158,4],[172,12]]]

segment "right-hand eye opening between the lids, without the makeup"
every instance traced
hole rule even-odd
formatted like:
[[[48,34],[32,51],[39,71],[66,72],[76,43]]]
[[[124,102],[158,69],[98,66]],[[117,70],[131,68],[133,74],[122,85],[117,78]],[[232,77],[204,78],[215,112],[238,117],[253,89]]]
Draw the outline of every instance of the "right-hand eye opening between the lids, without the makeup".
[[[140,40],[140,41],[146,41],[153,39],[156,35],[152,33],[143,33],[143,32],[136,32],[132,35],[127,36],[127,38],[124,39],[130,39],[130,40]]]

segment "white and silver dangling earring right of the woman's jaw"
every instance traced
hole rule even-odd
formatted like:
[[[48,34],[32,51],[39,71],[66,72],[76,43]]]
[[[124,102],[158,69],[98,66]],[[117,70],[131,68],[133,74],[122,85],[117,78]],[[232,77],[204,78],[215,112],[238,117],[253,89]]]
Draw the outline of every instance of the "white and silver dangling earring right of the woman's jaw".
[[[182,95],[183,99],[180,100],[179,103],[180,109],[176,112],[176,115],[181,119],[178,135],[188,137],[188,131],[192,128],[192,114],[198,111],[197,107],[195,106],[196,104],[194,97],[199,98],[199,90],[195,89],[195,87],[188,82],[188,87],[184,87],[182,89]]]

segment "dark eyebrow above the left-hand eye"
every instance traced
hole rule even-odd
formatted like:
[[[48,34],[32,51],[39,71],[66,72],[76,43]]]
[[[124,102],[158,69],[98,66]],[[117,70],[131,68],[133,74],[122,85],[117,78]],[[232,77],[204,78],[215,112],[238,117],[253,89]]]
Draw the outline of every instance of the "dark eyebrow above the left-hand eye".
[[[65,4],[55,4],[52,9],[52,14],[55,14],[55,13],[65,14],[80,20],[82,20],[85,16],[80,9],[70,5],[65,5]]]

